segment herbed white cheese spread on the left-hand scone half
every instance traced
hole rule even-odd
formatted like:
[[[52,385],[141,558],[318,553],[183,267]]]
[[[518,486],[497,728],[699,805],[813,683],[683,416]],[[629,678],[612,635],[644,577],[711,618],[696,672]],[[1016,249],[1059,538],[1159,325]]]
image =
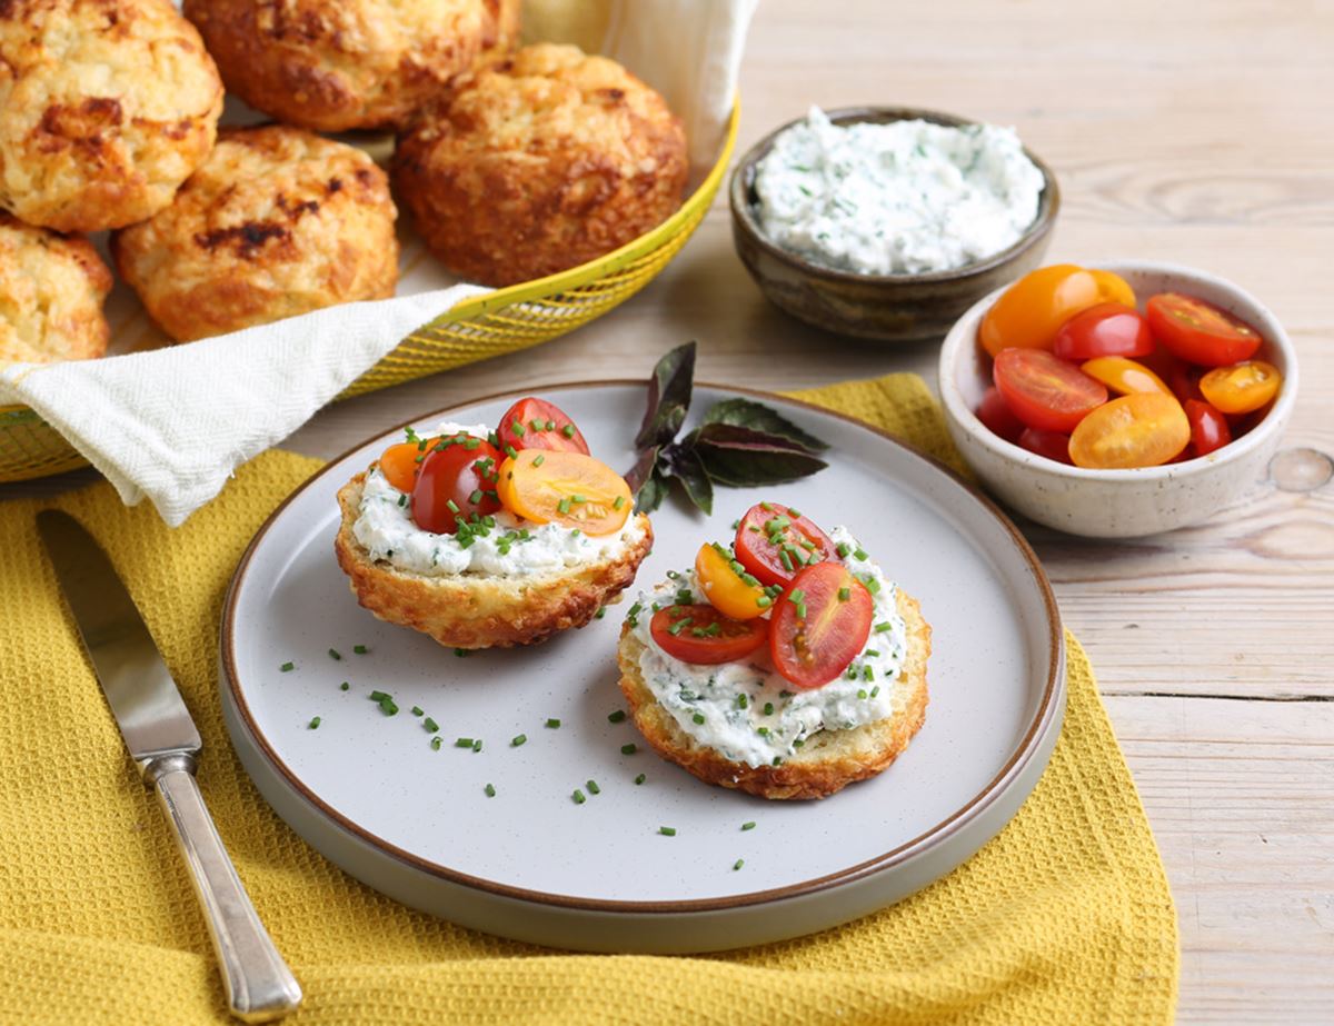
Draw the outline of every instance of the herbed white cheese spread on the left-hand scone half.
[[[486,438],[488,428],[486,424],[443,423],[422,432],[422,436],[460,431]],[[371,559],[423,576],[478,574],[522,578],[600,563],[639,542],[644,532],[634,515],[626,518],[620,530],[600,536],[556,523],[535,524],[508,510],[492,516],[495,528],[487,535],[474,535],[467,547],[459,544],[454,535],[423,531],[412,520],[408,496],[390,484],[376,466],[367,472],[362,486],[360,512],[352,524],[352,535],[371,554]]]

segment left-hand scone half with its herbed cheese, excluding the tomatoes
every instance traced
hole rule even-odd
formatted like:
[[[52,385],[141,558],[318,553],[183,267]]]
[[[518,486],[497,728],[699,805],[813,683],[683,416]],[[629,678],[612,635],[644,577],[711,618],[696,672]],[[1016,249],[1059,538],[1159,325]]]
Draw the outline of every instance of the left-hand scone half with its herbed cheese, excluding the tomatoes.
[[[464,430],[486,434],[483,426]],[[338,499],[334,548],[358,602],[452,648],[534,644],[583,627],[635,579],[654,538],[643,514],[592,536],[507,510],[463,540],[435,534],[414,522],[406,494],[379,463],[344,484]]]

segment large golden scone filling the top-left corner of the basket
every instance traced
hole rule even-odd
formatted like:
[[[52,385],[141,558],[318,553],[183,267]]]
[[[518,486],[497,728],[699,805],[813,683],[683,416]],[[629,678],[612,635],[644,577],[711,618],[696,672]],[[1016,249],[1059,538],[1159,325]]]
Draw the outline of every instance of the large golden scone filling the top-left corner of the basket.
[[[0,207],[63,232],[149,217],[208,156],[223,83],[169,0],[0,4]]]

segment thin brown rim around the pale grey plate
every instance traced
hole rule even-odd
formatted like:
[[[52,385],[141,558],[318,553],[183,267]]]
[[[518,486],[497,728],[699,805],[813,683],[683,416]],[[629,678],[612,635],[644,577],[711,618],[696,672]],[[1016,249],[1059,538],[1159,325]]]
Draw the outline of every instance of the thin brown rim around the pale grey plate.
[[[788,883],[783,887],[771,887],[763,891],[750,891],[747,894],[734,894],[723,898],[696,898],[690,901],[623,901],[623,899],[606,899],[606,898],[584,898],[579,895],[568,894],[551,894],[547,891],[531,890],[527,887],[515,887],[506,883],[498,883],[495,881],[488,881],[482,877],[474,877],[467,873],[460,873],[459,870],[450,869],[448,866],[442,866],[439,863],[423,859],[419,855],[406,851],[396,845],[372,834],[356,822],[348,819],[336,809],[325,803],[319,795],[311,791],[305,783],[283,762],[273,747],[268,743],[268,739],[259,730],[255,719],[251,714],[249,704],[245,700],[239,682],[235,655],[232,651],[232,639],[235,636],[235,618],[236,618],[236,604],[240,595],[240,587],[245,571],[249,568],[252,556],[259,547],[264,535],[272,528],[283,511],[291,504],[296,496],[301,495],[307,488],[315,484],[320,478],[332,472],[343,460],[348,459],[354,452],[364,448],[371,442],[386,435],[392,435],[395,431],[402,431],[408,424],[415,424],[422,420],[427,420],[435,416],[443,416],[451,414],[456,410],[470,406],[478,406],[480,403],[496,402],[499,399],[508,398],[522,398],[524,395],[542,395],[547,391],[555,391],[562,388],[608,388],[608,387],[636,387],[643,388],[647,386],[647,379],[634,379],[634,378],[619,378],[607,380],[591,380],[591,382],[560,382],[551,383],[546,386],[532,386],[520,390],[506,390],[503,392],[494,392],[491,395],[476,396],[459,403],[451,403],[440,410],[428,411],[412,416],[403,423],[391,427],[378,435],[372,435],[363,439],[358,444],[348,448],[346,452],[331,459],[324,467],[320,467],[309,478],[301,482],[296,488],[292,490],[268,519],[259,527],[255,536],[251,539],[245,551],[241,554],[240,562],[236,566],[236,571],[232,574],[232,579],[227,587],[227,595],[223,600],[223,616],[219,628],[219,652],[221,654],[221,667],[223,679],[219,680],[219,687],[227,687],[235,708],[237,711],[237,718],[240,724],[244,727],[245,732],[255,742],[255,744],[264,754],[268,763],[277,770],[279,775],[285,781],[287,786],[295,791],[303,801],[319,810],[327,819],[332,821],[335,825],[342,827],[346,833],[358,838],[366,845],[379,850],[380,853],[390,855],[407,866],[426,873],[428,875],[436,877],[439,879],[455,883],[463,887],[471,887],[475,890],[482,890],[488,894],[494,894],[502,898],[510,898],[520,902],[530,902],[538,905],[547,905],[562,909],[574,909],[587,913],[612,913],[612,914],[671,914],[671,913],[708,913],[719,910],[730,910],[744,906],[755,905],[768,905],[771,902],[806,897],[818,891],[828,890],[831,887],[846,886],[860,881],[871,874],[876,874],[891,869],[908,861],[912,857],[923,854],[924,850],[935,847],[944,839],[951,837],[963,829],[967,823],[976,819],[987,807],[990,807],[1007,789],[1006,785],[1014,777],[1017,777],[1025,766],[1031,762],[1038,747],[1039,740],[1046,735],[1046,731],[1051,728],[1051,719],[1057,715],[1058,696],[1063,691],[1065,674],[1063,674],[1063,630],[1061,626],[1061,614],[1057,608],[1057,599],[1051,591],[1051,584],[1047,580],[1047,575],[1042,568],[1042,563],[1038,560],[1037,554],[1029,544],[1027,539],[1019,532],[1019,528],[1014,526],[1009,516],[1000,511],[1000,508],[991,502],[982,491],[971,482],[964,480],[956,471],[946,466],[935,456],[931,456],[915,446],[903,442],[902,439],[894,438],[880,428],[867,424],[864,420],[859,420],[855,416],[850,416],[836,410],[828,410],[827,407],[810,403],[804,399],[796,399],[787,395],[779,395],[776,392],[766,392],[756,388],[744,388],[740,386],[723,386],[712,382],[696,382],[696,388],[712,388],[720,392],[731,392],[746,395],[754,399],[767,399],[770,402],[778,403],[792,403],[804,410],[810,410],[815,414],[823,414],[827,416],[838,418],[850,424],[860,427],[864,431],[878,435],[882,440],[888,442],[904,450],[908,455],[924,460],[930,466],[942,471],[947,478],[959,484],[964,491],[967,491],[974,499],[976,499],[983,508],[990,512],[999,523],[1009,531],[1019,554],[1025,558],[1033,572],[1034,580],[1042,594],[1043,604],[1047,611],[1047,630],[1049,630],[1049,660],[1047,660],[1047,679],[1043,686],[1042,700],[1038,706],[1035,715],[1029,723],[1023,734],[1023,740],[1019,743],[1018,748],[1006,760],[1006,764],[1000,767],[995,777],[991,778],[982,787],[978,794],[975,794],[968,802],[960,806],[952,815],[940,821],[928,830],[918,834],[915,838],[903,842],[898,847],[890,851],[876,855],[870,859],[864,859],[855,866],[848,866],[846,869],[838,870],[835,873],[826,874],[823,877],[816,877],[808,881],[799,881],[796,883]]]

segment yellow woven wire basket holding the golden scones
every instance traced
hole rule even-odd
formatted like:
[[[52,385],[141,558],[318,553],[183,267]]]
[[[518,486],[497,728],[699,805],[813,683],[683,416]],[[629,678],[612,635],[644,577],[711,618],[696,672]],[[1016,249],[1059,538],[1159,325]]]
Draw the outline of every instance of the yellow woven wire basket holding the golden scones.
[[[422,326],[343,390],[347,399],[414,378],[516,352],[574,331],[647,286],[704,219],[736,143],[740,108],[708,177],[671,217],[619,249],[558,275],[499,288],[459,303]],[[0,407],[0,483],[87,466],[51,424],[25,406]]]

